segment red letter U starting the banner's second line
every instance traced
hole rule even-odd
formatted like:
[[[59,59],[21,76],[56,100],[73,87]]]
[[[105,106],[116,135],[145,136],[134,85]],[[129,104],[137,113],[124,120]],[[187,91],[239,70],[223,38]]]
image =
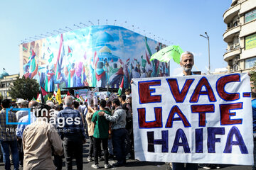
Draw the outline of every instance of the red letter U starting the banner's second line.
[[[139,113],[139,128],[162,128],[162,108],[154,108],[156,120],[146,122],[146,109],[138,108]]]

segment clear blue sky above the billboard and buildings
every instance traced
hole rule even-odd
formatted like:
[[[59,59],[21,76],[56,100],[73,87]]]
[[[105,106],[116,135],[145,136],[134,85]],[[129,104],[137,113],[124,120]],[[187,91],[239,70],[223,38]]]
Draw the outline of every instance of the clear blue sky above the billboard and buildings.
[[[202,72],[207,72],[208,43],[199,35],[207,31],[213,71],[227,66],[223,60],[227,47],[223,41],[226,29],[223,13],[230,4],[231,0],[1,1],[0,69],[5,68],[9,74],[19,72],[21,40],[47,32],[57,34],[53,30],[68,30],[65,26],[77,29],[74,24],[90,26],[89,21],[97,25],[99,19],[100,25],[115,23],[167,45],[173,43],[194,52],[196,67],[193,70],[198,68]],[[172,72],[178,67],[171,62]]]

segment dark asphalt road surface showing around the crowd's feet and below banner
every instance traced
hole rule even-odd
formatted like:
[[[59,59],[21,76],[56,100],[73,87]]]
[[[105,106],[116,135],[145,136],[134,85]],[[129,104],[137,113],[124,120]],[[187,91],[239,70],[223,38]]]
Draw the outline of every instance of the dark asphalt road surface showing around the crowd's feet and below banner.
[[[89,141],[89,140],[87,140]],[[83,169],[92,169],[91,165],[94,162],[87,162],[87,156],[88,156],[88,147],[89,147],[89,142],[87,142],[84,145],[84,152],[83,152]],[[110,159],[109,163],[114,164],[117,162],[116,160]],[[100,169],[104,169],[104,161],[99,162]],[[127,164],[122,167],[112,167],[110,169],[139,169],[139,170],[160,170],[160,169],[166,169],[169,167],[169,164],[165,164],[163,162],[139,162],[137,160],[133,159],[127,159]],[[220,165],[221,169],[223,170],[251,170],[251,166],[235,166],[235,165]],[[0,163],[0,170],[4,169],[4,163]],[[14,166],[11,166],[11,169],[14,169]],[[23,169],[20,167],[20,169]],[[73,161],[73,169],[76,169],[75,166],[75,161]],[[201,168],[198,168],[199,170],[203,170]],[[65,170],[65,161],[63,159],[63,170]]]

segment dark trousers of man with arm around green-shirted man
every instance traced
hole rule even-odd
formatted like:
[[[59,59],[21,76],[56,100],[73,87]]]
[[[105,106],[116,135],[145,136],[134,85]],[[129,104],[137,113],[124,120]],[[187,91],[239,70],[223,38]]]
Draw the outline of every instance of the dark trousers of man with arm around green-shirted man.
[[[127,137],[127,130],[125,128],[112,130],[112,143],[114,147],[114,154],[117,157],[117,164],[122,165],[126,163],[126,149],[125,138]]]

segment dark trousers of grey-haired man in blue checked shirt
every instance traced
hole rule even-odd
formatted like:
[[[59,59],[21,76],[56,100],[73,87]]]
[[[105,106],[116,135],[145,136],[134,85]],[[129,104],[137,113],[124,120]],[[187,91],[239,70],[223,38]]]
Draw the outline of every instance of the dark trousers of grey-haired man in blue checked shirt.
[[[82,170],[82,134],[65,134],[63,148],[66,169],[72,169],[72,159],[75,158],[78,170]]]

